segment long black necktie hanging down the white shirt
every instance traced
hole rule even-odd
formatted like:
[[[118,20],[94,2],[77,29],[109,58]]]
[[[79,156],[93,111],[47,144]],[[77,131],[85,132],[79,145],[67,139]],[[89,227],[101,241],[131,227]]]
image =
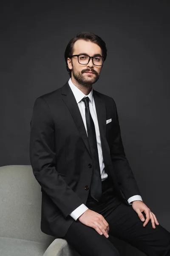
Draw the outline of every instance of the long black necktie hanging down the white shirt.
[[[100,174],[100,166],[99,166],[99,155],[97,149],[97,141],[96,141],[96,132],[93,119],[91,117],[90,109],[89,109],[89,98],[85,97],[82,99],[85,102],[85,119],[88,131],[88,141],[91,150],[91,157],[93,163],[93,173],[91,178],[91,197],[99,202],[99,199],[102,195],[102,180]]]

